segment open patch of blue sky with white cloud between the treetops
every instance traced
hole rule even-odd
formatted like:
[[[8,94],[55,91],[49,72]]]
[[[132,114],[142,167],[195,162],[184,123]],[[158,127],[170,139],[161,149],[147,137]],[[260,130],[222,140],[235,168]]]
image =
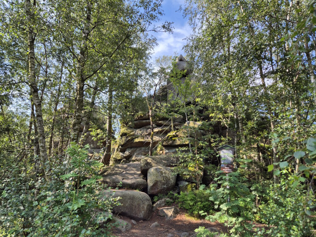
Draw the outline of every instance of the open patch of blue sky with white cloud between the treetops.
[[[165,15],[161,17],[161,22],[174,22],[174,29],[173,33],[154,34],[158,45],[154,48],[152,59],[162,55],[173,56],[174,52],[177,52],[177,55],[184,55],[182,47],[185,45],[185,37],[191,33],[191,27],[188,25],[188,20],[183,18],[182,12],[178,11],[180,5],[184,5],[184,0],[163,1],[162,9]]]

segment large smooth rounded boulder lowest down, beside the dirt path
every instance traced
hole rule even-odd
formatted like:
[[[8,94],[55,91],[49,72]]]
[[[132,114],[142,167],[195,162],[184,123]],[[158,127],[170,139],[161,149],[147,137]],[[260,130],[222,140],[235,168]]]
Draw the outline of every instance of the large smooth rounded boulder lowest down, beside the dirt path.
[[[107,192],[107,191],[106,191]],[[112,197],[120,197],[121,205],[113,207],[113,212],[134,220],[149,220],[152,213],[150,197],[139,191],[117,190]]]

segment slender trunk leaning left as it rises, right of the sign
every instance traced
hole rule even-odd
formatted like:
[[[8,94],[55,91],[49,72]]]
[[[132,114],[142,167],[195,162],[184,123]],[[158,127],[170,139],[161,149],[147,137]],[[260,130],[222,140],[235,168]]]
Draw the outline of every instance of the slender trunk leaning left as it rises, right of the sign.
[[[261,78],[264,94],[265,94],[265,97],[267,98],[268,97],[268,91],[267,91],[267,87],[265,85],[265,78],[264,78],[261,62],[259,62],[259,72],[260,72],[260,78]],[[269,100],[267,101],[267,109],[268,109],[268,114],[269,114],[269,117],[270,117],[271,132],[274,132],[275,131],[275,122],[273,121],[274,115],[273,115],[273,113],[271,111]],[[272,143],[272,151],[273,151],[273,163],[279,162],[279,159],[276,156],[277,149],[276,149],[276,144],[275,143]],[[273,170],[277,170],[277,169],[278,169],[278,166],[277,165],[273,165]],[[279,183],[279,177],[277,175],[275,175],[275,174],[273,174],[273,181],[274,181],[275,184]]]

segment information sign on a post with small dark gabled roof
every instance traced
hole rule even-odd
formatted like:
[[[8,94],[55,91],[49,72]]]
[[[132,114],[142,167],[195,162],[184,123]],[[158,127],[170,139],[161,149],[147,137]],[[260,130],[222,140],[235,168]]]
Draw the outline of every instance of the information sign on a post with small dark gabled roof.
[[[221,157],[221,170],[223,173],[226,173],[226,176],[228,176],[228,173],[234,172],[234,155],[235,155],[235,148],[231,147],[229,145],[224,145],[217,149],[219,152],[219,155]],[[228,180],[228,177],[227,177]],[[226,188],[229,188],[229,185],[226,186]],[[229,196],[227,202],[229,203]]]

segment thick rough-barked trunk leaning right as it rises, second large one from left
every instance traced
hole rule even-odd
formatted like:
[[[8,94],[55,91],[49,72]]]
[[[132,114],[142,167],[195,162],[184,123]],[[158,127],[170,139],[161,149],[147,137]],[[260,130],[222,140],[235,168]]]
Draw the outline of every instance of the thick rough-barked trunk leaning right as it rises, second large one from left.
[[[87,1],[87,17],[85,27],[82,30],[82,43],[76,68],[76,81],[77,81],[77,97],[76,97],[76,108],[73,116],[72,123],[72,140],[78,141],[80,124],[82,122],[82,111],[83,111],[83,99],[84,99],[84,82],[85,77],[83,75],[83,65],[88,51],[88,35],[90,30],[92,5],[90,1]]]

